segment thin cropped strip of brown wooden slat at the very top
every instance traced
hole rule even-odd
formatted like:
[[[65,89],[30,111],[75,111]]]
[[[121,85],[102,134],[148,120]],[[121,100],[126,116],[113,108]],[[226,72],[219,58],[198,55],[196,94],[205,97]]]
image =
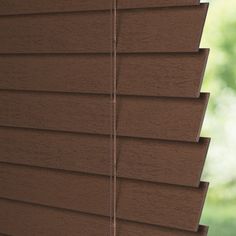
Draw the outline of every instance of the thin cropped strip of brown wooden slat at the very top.
[[[118,0],[118,9],[198,5],[199,0]],[[0,0],[0,15],[108,10],[110,0]]]

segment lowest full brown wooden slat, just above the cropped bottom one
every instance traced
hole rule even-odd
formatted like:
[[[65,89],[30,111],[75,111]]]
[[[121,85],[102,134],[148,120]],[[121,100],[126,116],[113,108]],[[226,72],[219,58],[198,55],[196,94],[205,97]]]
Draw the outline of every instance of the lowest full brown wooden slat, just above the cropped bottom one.
[[[0,164],[0,197],[109,216],[110,178]],[[197,231],[208,184],[199,188],[118,179],[117,216]]]

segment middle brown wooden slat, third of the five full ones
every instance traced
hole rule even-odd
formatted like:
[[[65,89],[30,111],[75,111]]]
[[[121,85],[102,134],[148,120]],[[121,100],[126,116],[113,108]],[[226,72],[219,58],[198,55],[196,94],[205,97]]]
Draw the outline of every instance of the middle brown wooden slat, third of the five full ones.
[[[196,142],[208,97],[208,94],[191,99],[119,97],[117,133]],[[107,95],[1,91],[0,110],[0,126],[94,134],[111,132],[111,98]]]

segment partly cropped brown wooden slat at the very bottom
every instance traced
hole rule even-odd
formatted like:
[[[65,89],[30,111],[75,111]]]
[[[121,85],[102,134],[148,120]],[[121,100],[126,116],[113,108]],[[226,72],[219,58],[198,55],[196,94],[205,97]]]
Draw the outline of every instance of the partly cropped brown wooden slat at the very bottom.
[[[39,205],[0,199],[0,227],[12,236],[109,236],[109,220]],[[65,227],[66,225],[66,227]],[[198,232],[162,228],[129,221],[118,221],[118,236],[206,236]]]

